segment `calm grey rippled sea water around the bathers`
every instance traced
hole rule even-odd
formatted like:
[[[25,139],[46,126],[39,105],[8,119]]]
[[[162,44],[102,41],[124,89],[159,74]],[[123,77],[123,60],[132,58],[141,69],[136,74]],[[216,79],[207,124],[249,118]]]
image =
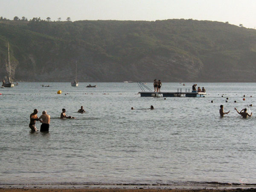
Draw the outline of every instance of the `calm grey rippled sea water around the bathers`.
[[[0,89],[0,184],[256,183],[256,83],[197,83],[206,97],[166,99],[140,97],[137,83],[88,84]],[[234,110],[250,104],[251,118]],[[30,131],[35,108],[51,116],[49,133]],[[62,108],[76,119],[60,119]]]

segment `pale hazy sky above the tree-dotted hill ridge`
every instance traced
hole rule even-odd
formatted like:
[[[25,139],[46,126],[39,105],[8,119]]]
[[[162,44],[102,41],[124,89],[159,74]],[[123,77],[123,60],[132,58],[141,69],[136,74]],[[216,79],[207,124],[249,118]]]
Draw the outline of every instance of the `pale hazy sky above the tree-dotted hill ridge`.
[[[0,0],[0,16],[51,20],[214,20],[256,28],[256,0]]]

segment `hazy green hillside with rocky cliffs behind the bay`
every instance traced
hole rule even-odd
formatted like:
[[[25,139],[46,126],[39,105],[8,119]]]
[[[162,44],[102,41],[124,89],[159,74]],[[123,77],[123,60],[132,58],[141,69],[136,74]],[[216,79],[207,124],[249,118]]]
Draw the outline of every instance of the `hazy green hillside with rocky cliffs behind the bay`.
[[[256,30],[227,23],[0,21],[2,78],[8,41],[15,81],[256,81]]]

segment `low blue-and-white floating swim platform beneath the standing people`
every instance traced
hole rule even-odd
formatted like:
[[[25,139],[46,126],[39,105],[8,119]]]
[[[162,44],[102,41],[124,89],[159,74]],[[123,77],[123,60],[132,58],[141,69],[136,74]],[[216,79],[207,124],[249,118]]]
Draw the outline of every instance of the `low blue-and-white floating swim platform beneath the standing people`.
[[[141,97],[204,97],[204,92],[139,92]]]

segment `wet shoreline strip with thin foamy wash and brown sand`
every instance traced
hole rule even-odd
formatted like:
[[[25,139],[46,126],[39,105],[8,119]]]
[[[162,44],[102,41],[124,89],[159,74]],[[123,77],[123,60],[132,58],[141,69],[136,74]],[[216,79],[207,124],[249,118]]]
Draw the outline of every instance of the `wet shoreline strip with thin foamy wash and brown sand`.
[[[104,185],[0,185],[0,192],[256,192],[255,185],[242,186],[104,186]]]

